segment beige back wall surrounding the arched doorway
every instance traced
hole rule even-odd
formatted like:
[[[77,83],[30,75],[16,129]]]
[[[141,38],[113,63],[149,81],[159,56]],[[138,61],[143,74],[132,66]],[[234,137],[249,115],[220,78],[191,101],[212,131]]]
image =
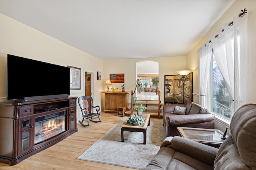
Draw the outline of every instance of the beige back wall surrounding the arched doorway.
[[[186,56],[175,57],[158,57],[158,58],[144,58],[144,59],[126,59],[126,60],[110,60],[104,61],[104,74],[102,78],[106,82],[109,79],[110,73],[124,73],[124,83],[126,84],[126,91],[134,91],[136,86],[136,63],[143,61],[156,61],[159,63],[159,90],[161,91],[160,100],[164,102],[164,75],[177,74],[177,70],[186,69]],[[103,82],[104,84],[104,82]],[[113,83],[112,86],[120,90],[123,83]],[[104,91],[106,91],[106,85]],[[130,95],[129,95],[130,96]],[[129,98],[129,102],[130,102]],[[104,94],[102,95],[102,102],[104,101]]]

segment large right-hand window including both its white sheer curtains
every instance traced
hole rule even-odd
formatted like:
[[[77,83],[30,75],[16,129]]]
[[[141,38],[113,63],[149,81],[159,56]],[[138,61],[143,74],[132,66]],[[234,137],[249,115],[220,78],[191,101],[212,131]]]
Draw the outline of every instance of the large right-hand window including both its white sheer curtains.
[[[216,119],[223,117],[218,121],[226,125],[234,112],[247,103],[247,19],[247,15],[234,17],[198,50],[199,103],[216,114]]]

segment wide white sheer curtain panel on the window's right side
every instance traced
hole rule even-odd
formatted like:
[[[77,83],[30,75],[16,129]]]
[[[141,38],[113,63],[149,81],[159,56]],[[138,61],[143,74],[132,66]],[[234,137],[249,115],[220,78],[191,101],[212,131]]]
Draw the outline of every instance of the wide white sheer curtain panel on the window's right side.
[[[223,76],[226,88],[232,99],[231,117],[234,111],[246,102],[243,90],[246,90],[246,27],[248,14],[242,18],[235,16],[231,26],[224,25],[224,32],[212,37],[212,47],[218,68]]]

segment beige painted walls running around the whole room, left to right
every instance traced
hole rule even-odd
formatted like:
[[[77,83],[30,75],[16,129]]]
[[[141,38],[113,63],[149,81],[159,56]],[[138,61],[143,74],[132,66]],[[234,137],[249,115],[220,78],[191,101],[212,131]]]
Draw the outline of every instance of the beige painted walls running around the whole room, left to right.
[[[93,95],[96,104],[104,102],[106,91],[104,83],[109,79],[110,73],[124,73],[126,91],[134,90],[136,85],[136,63],[141,61],[157,61],[159,63],[159,80],[162,92],[161,100],[164,101],[164,75],[176,74],[177,70],[188,69],[193,71],[193,101],[198,103],[198,53],[197,50],[210,40],[212,35],[216,35],[219,29],[223,28],[224,23],[233,20],[233,17],[243,8],[248,9],[248,55],[250,61],[245,69],[248,69],[248,92],[247,103],[256,103],[256,1],[255,0],[236,0],[218,22],[208,31],[208,33],[197,43],[197,45],[186,56],[159,57],[146,59],[126,59],[102,61],[92,55],[84,53],[70,45],[57,39],[49,37],[44,33],[36,31],[18,21],[12,20],[0,14],[0,100],[6,100],[6,56],[7,54],[26,57],[47,63],[63,66],[75,66],[82,70],[82,82],[84,72],[91,72],[93,77]],[[97,80],[96,73],[100,71],[102,79]],[[83,83],[82,83],[83,84]],[[122,83],[113,84],[120,88]],[[72,90],[71,96],[82,96],[84,85],[81,90]]]

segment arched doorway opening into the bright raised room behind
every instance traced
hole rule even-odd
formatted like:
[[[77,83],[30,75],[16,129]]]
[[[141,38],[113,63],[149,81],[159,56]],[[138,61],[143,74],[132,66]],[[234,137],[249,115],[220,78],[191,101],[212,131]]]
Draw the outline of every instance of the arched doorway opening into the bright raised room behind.
[[[159,76],[158,61],[140,61],[136,63],[137,78],[140,80],[142,87],[137,88],[137,100],[157,101],[156,86]],[[147,87],[146,87],[146,86]]]

